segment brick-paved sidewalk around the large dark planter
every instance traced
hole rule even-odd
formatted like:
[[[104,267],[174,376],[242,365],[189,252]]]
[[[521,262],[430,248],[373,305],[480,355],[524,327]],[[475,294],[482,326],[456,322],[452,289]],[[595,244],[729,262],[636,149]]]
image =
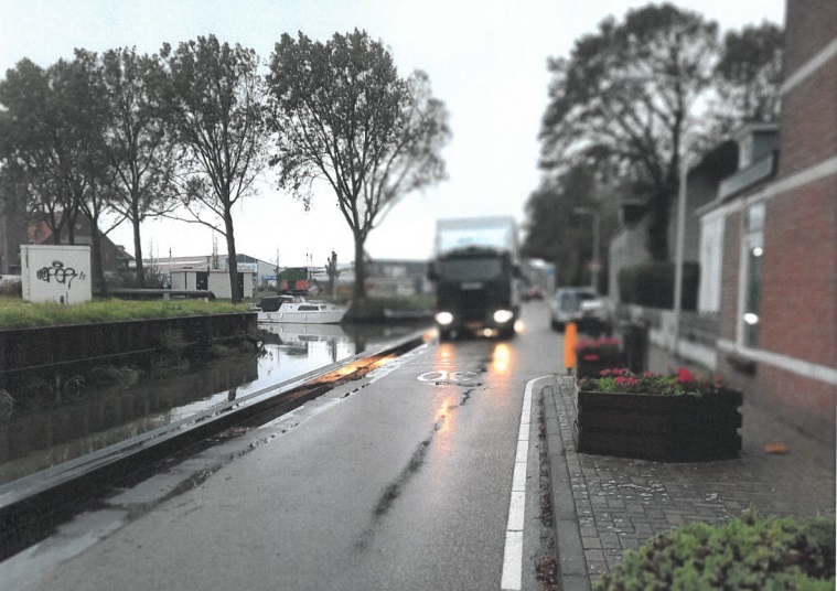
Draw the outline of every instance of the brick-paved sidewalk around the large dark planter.
[[[753,505],[762,515],[835,512],[835,450],[744,401],[740,458],[663,463],[577,453],[572,377],[543,390],[561,589],[589,589],[626,549],[691,522],[718,523]],[[780,442],[787,454],[769,454]],[[575,522],[575,523],[573,523]]]

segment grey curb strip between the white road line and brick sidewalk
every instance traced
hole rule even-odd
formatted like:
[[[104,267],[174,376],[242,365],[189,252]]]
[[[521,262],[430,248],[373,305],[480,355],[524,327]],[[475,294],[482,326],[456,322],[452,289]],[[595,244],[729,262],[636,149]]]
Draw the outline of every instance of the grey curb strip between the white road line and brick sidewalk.
[[[549,458],[549,485],[552,497],[552,515],[556,540],[556,563],[562,591],[589,591],[590,576],[581,542],[581,530],[572,493],[567,450],[559,420],[558,398],[560,388],[570,387],[564,376],[544,386],[546,449]],[[561,402],[561,408],[564,404]]]

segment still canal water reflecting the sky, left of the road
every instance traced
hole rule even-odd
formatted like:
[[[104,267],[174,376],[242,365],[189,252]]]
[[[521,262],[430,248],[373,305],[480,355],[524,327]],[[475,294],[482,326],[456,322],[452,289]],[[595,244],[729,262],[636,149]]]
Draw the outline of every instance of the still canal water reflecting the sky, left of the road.
[[[397,341],[421,326],[272,324],[264,351],[0,416],[0,485]]]

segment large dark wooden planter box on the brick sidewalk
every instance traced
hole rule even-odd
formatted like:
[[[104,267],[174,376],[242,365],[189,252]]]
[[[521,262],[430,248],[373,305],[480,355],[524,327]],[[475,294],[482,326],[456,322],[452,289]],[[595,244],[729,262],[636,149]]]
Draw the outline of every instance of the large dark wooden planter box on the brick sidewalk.
[[[697,396],[577,393],[579,452],[661,462],[729,460],[741,451],[740,391]]]

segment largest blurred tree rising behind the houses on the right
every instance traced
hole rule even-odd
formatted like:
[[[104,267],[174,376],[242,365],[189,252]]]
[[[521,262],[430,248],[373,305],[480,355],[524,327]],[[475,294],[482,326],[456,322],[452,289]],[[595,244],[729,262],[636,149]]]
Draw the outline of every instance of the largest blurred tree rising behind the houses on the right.
[[[698,98],[711,88],[717,61],[717,24],[665,3],[632,10],[623,23],[607,19],[569,58],[549,63],[543,165],[610,168],[645,193],[656,259],[668,256],[685,137],[698,133]]]

